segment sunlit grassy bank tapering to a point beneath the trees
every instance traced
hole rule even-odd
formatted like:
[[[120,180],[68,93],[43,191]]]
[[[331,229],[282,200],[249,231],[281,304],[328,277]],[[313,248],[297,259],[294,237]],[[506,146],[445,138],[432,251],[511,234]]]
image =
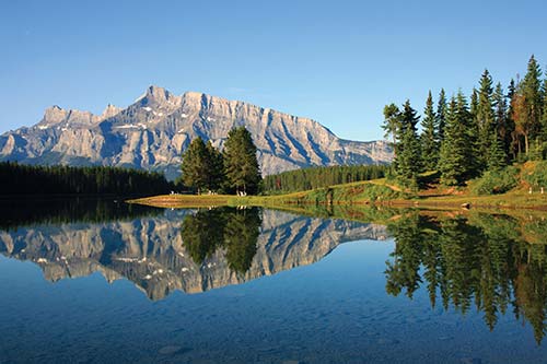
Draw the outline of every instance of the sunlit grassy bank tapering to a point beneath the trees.
[[[435,184],[431,174],[424,175],[426,188],[419,192],[403,191],[385,178],[370,181],[336,185],[309,191],[279,196],[231,195],[165,195],[143,199],[129,200],[131,203],[148,204],[162,208],[200,208],[214,206],[258,206],[280,208],[283,210],[310,211],[329,206],[393,206],[423,208],[472,208],[486,209],[536,209],[547,210],[547,191],[540,192],[539,185],[533,183],[531,176],[544,173],[544,165],[526,163],[515,168],[514,184],[504,193],[480,195],[477,188],[490,180],[472,180],[465,187],[446,188]],[[490,177],[489,177],[490,178]],[[492,190],[496,190],[493,179]],[[532,193],[529,192],[532,188]]]

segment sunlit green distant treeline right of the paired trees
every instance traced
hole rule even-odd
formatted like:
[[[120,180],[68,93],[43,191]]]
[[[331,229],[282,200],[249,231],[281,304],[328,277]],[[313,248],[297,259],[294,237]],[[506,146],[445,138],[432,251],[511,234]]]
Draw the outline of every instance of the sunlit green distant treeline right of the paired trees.
[[[283,172],[264,178],[266,193],[295,192],[331,185],[382,178],[389,166],[351,165],[331,167],[311,167]]]

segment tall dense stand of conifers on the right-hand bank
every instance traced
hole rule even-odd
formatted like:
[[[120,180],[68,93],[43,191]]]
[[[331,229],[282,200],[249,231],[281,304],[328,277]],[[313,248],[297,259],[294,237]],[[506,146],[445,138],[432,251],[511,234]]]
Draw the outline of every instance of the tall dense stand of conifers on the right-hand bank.
[[[386,105],[383,129],[394,146],[399,184],[415,190],[419,173],[439,171],[441,183],[457,186],[515,161],[545,158],[547,78],[542,78],[532,56],[524,79],[511,80],[507,91],[485,69],[469,98],[459,90],[447,99],[441,90],[435,109],[430,91],[421,118],[409,101],[401,108]]]

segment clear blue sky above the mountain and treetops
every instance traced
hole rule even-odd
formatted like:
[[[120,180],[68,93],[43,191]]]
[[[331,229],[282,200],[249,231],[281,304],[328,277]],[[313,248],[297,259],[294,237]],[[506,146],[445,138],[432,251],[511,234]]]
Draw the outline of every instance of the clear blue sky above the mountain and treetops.
[[[544,1],[3,1],[0,132],[46,107],[101,113],[148,85],[382,138],[382,109],[547,63]]]

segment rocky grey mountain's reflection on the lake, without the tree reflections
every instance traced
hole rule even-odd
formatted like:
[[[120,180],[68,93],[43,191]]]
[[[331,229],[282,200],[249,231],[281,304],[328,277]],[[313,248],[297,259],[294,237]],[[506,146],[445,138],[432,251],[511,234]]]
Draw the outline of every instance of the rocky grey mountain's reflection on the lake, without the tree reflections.
[[[229,215],[236,216],[237,212]],[[36,263],[53,282],[96,271],[108,282],[125,278],[155,301],[177,290],[199,293],[312,265],[344,242],[383,240],[388,234],[382,225],[264,210],[256,226],[259,234],[252,242],[255,250],[248,257],[248,269],[236,272],[223,247],[201,262],[191,258],[189,243],[181,234],[185,216],[187,211],[175,210],[130,221],[0,231],[0,254]]]

